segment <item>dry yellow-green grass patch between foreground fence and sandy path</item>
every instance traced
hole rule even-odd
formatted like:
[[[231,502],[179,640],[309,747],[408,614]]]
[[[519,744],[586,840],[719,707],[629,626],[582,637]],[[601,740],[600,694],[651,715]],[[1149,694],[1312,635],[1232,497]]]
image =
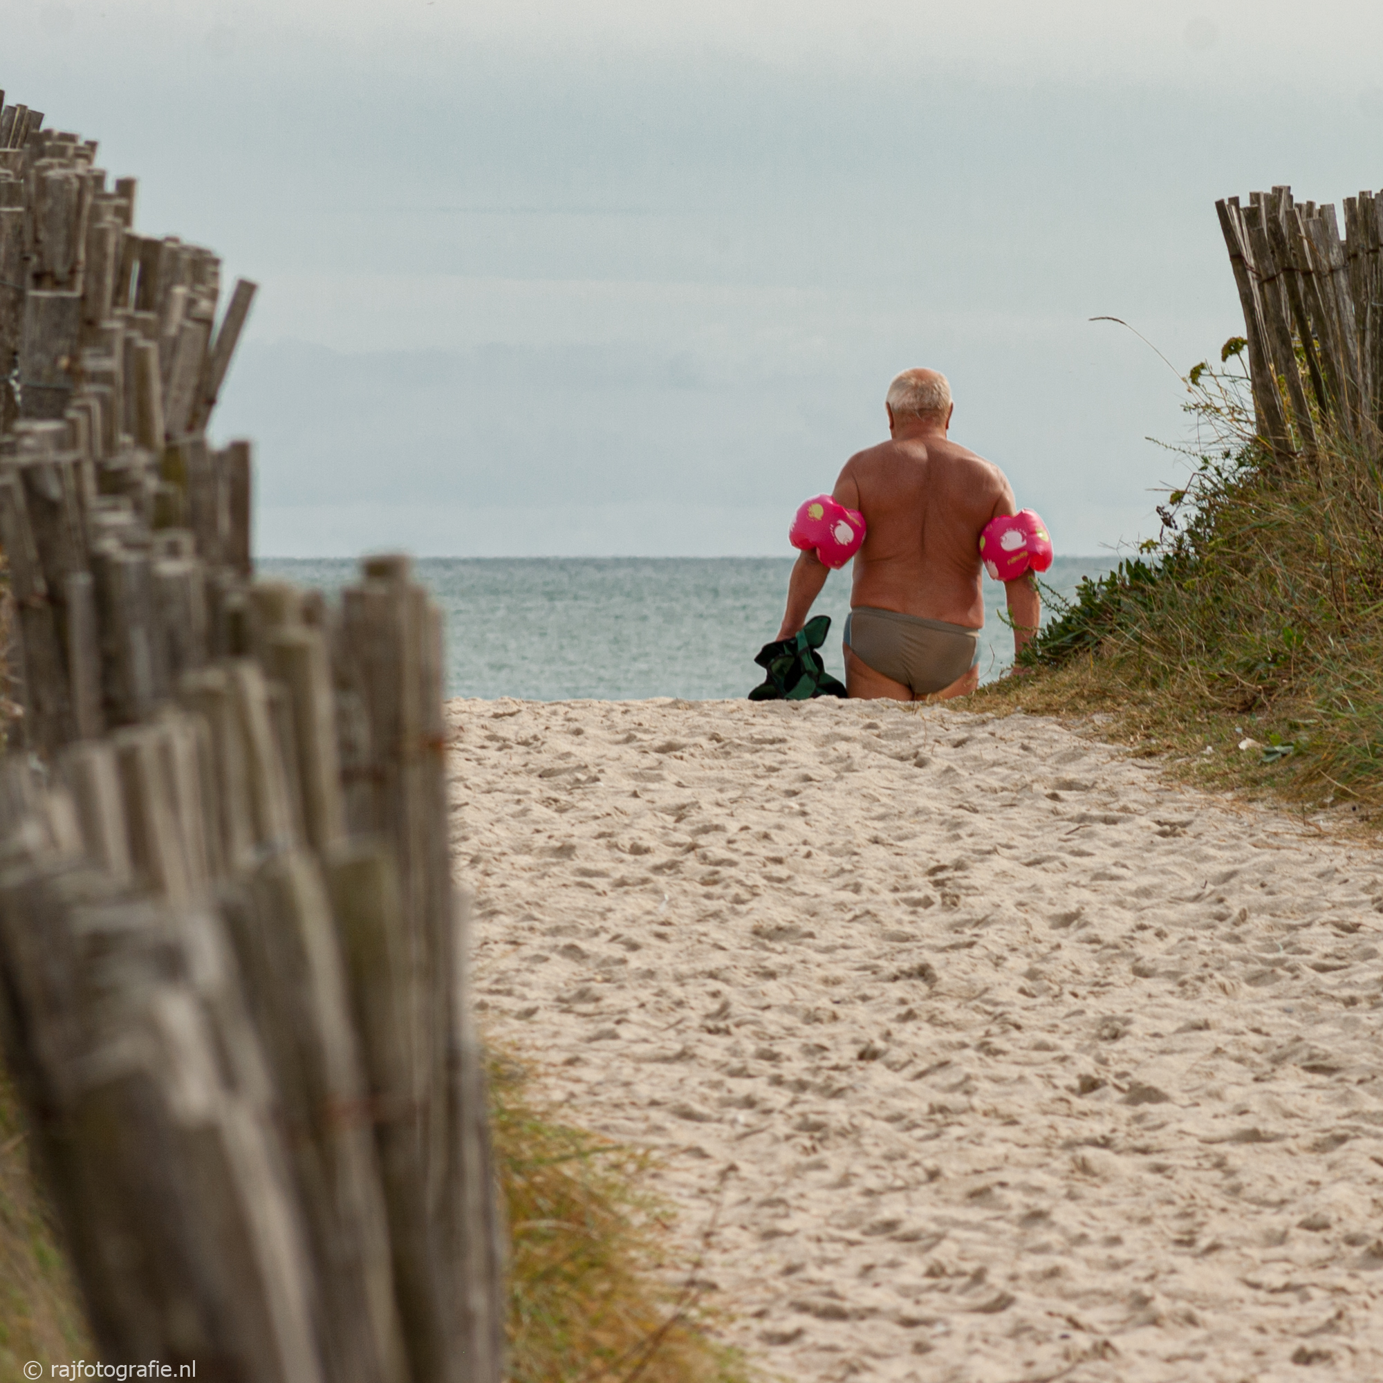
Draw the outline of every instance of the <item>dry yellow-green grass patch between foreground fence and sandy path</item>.
[[[561,1123],[508,1058],[491,1064],[491,1111],[512,1383],[744,1383],[744,1361],[705,1332],[696,1264],[669,1257],[647,1155]]]

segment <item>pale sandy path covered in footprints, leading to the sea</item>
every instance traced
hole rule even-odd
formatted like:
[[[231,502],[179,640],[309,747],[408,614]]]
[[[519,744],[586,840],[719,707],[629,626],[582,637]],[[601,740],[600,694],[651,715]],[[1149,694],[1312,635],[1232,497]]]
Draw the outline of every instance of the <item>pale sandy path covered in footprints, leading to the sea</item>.
[[[1383,856],[1025,716],[449,716],[483,1021],[769,1369],[1383,1379]]]

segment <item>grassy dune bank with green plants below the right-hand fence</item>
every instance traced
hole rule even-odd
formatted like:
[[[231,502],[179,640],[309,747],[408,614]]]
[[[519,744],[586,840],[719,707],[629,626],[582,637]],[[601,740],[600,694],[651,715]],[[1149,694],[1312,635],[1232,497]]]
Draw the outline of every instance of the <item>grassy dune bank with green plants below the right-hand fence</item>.
[[[1102,733],[1178,759],[1207,786],[1377,808],[1379,440],[1322,416],[1314,448],[1299,440],[1297,455],[1274,455],[1242,375],[1200,365],[1187,386],[1198,444],[1189,481],[1159,506],[1159,538],[1069,602],[1048,592],[1055,615],[1021,675],[981,700],[1098,714]]]

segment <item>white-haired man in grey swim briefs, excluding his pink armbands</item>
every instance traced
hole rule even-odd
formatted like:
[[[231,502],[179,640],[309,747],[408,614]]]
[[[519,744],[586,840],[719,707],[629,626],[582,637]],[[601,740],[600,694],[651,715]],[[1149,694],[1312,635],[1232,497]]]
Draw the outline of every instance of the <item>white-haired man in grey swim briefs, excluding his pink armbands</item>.
[[[864,514],[845,621],[845,679],[852,697],[965,696],[979,685],[985,624],[979,534],[1017,513],[1004,473],[953,443],[950,384],[935,369],[904,369],[888,386],[889,441],[856,452],[833,498]],[[827,567],[797,559],[780,639],[806,622]],[[1036,633],[1041,606],[1029,574],[1005,586],[1014,651]]]

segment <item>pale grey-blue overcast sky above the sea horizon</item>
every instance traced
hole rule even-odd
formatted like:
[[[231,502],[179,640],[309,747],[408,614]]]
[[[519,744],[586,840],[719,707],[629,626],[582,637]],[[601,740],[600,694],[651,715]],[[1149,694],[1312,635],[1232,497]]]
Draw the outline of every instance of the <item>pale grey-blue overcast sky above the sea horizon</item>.
[[[1307,19],[1310,22],[1307,22]],[[261,285],[272,556],[774,553],[909,365],[1058,550],[1156,528],[1214,199],[1383,184],[1383,7],[0,0],[0,86]]]

